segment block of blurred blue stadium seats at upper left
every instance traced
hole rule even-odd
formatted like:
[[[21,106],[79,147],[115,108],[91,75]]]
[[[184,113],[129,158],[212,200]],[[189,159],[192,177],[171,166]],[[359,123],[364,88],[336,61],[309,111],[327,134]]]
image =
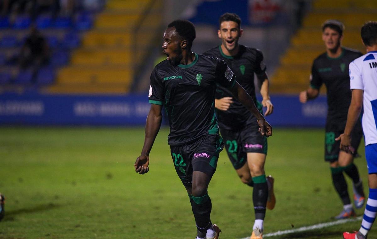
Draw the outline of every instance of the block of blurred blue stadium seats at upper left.
[[[89,8],[97,2],[95,8]],[[103,9],[105,1],[82,2],[72,15],[54,11],[9,12],[0,17],[0,91],[41,89],[55,84],[57,70],[69,63],[70,52],[81,45],[85,30],[93,26],[95,15]],[[55,14],[55,15],[54,15]],[[25,39],[35,26],[45,37],[51,58],[47,65],[32,72],[30,66],[21,70],[19,55]]]

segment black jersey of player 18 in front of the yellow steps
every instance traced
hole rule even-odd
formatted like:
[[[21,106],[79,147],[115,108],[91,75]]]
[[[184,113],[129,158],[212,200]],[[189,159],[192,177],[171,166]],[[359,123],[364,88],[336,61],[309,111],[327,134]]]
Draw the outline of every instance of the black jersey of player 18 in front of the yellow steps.
[[[342,48],[342,54],[330,58],[323,53],[314,59],[311,69],[310,86],[318,89],[325,84],[327,89],[327,120],[342,122],[347,119],[351,104],[348,65],[363,54],[358,50]]]

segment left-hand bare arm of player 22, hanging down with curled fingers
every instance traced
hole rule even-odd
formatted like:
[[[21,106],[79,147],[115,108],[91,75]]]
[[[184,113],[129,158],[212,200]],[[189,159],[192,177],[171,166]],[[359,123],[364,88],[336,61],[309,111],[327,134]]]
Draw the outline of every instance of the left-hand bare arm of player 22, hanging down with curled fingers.
[[[152,149],[153,142],[155,142],[161,126],[161,109],[161,105],[150,105],[145,126],[144,146],[141,150],[140,156],[136,158],[135,164],[133,164],[135,167],[135,172],[139,174],[146,174],[149,171],[149,152]]]

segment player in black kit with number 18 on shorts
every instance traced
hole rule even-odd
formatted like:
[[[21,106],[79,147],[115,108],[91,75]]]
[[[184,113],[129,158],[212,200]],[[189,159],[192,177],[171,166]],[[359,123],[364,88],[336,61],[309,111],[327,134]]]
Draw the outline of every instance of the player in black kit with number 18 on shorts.
[[[365,196],[359,171],[353,163],[355,154],[347,153],[339,149],[339,141],[335,139],[343,133],[348,107],[351,103],[351,91],[349,90],[348,65],[354,59],[362,56],[362,53],[341,46],[344,26],[336,20],[327,20],[322,25],[322,40],[325,42],[326,52],[318,56],[311,69],[310,87],[300,93],[300,102],[314,99],[319,94],[322,84],[327,88],[328,112],[325,134],[325,161],[330,163],[333,184],[342,199],[343,211],[336,219],[355,216],[354,209],[349,199],[345,172],[353,181],[354,203],[356,208],[363,207]],[[352,147],[359,147],[362,137],[360,120],[352,131]]]

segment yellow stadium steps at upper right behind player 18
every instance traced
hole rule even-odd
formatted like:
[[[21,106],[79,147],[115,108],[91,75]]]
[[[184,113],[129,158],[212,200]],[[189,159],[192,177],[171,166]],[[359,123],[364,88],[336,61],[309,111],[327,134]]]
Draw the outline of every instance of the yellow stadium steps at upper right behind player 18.
[[[294,93],[308,88],[311,65],[325,52],[321,25],[325,20],[337,19],[345,24],[342,45],[365,52],[360,38],[360,28],[368,20],[374,20],[377,1],[365,0],[316,0],[313,11],[303,19],[302,28],[291,38],[290,47],[280,57],[280,64],[271,77],[270,91]],[[322,90],[323,91],[323,90]],[[325,91],[321,92],[324,93]]]

